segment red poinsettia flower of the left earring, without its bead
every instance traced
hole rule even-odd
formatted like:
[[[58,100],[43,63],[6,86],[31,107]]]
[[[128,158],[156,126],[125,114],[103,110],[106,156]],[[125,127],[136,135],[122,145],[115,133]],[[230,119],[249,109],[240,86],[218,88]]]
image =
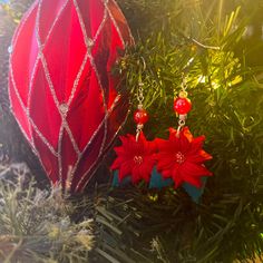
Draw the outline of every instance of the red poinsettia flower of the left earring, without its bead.
[[[143,132],[139,134],[138,142],[133,135],[120,136],[120,140],[123,145],[114,148],[117,158],[110,168],[119,171],[120,182],[130,176],[134,184],[142,179],[148,183],[156,163],[153,156],[156,152],[156,144],[147,142]]]

